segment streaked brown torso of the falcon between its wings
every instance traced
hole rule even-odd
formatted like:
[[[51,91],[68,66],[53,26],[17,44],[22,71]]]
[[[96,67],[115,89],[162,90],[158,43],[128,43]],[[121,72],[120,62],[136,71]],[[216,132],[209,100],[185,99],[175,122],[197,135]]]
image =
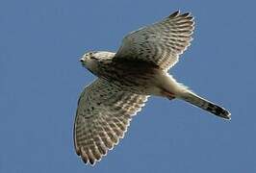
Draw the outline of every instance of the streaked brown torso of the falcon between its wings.
[[[101,56],[104,53],[106,59]],[[97,59],[99,54],[99,59]],[[158,65],[135,60],[115,60],[115,53],[94,53],[94,65],[90,71],[96,76],[115,84],[121,90],[142,94],[166,96],[166,92],[178,96],[184,88]],[[98,61],[99,60],[99,61]]]

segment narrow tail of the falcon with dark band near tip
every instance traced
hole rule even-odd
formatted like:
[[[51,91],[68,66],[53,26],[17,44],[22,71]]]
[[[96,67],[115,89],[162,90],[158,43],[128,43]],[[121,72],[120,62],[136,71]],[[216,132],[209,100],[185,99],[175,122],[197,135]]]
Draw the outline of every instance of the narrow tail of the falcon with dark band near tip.
[[[185,95],[181,97],[181,99],[191,103],[192,105],[200,109],[210,111],[221,118],[231,119],[231,113],[229,111],[226,111],[224,108],[221,108],[218,105],[209,102],[208,100],[199,97],[198,95],[192,92],[187,92]]]

